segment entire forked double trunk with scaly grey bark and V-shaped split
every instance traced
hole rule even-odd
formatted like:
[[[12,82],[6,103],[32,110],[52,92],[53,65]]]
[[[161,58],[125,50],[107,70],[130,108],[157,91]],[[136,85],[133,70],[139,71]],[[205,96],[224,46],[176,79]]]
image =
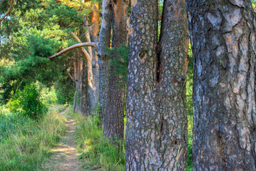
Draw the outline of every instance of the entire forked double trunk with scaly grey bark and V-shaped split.
[[[129,25],[126,170],[185,170],[185,1],[165,0],[160,43],[158,1],[132,1]]]

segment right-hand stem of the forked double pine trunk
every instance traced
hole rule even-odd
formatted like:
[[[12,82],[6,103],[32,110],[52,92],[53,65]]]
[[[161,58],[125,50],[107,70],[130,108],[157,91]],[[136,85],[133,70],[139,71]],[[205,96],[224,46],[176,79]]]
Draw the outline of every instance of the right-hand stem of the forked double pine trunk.
[[[186,170],[188,120],[185,107],[188,70],[188,17],[185,1],[165,0],[158,52],[156,89],[160,114],[161,170]]]

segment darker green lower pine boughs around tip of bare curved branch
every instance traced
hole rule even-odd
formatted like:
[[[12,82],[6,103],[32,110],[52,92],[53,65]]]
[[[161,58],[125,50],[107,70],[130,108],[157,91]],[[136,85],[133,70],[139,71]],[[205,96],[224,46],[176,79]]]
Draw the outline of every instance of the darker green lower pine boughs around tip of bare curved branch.
[[[46,86],[51,86],[54,79],[57,79],[61,73],[56,70],[56,63],[50,61],[48,56],[53,54],[60,43],[42,36],[29,36],[29,51],[31,55],[24,59],[17,58],[9,65],[1,65],[0,86],[1,103],[6,103],[11,97],[11,91],[22,90],[26,84],[39,81]]]

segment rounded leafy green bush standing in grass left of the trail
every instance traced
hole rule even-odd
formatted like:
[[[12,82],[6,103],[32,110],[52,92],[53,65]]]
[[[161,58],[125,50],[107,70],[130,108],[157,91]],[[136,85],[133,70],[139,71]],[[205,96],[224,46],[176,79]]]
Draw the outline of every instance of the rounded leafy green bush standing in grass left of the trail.
[[[16,112],[21,109],[23,115],[34,120],[39,120],[47,113],[46,105],[41,102],[39,91],[35,85],[26,86],[24,90],[18,91],[15,96],[9,102],[11,111]]]

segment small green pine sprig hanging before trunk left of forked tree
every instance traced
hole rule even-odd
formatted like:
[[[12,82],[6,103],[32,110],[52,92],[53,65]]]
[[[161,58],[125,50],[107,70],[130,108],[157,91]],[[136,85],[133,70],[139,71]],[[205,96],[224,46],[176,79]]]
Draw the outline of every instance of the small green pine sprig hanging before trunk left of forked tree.
[[[108,49],[108,56],[113,56],[111,58],[111,66],[113,66],[112,73],[118,77],[118,86],[125,87],[129,56],[128,46],[121,45],[119,48]]]

